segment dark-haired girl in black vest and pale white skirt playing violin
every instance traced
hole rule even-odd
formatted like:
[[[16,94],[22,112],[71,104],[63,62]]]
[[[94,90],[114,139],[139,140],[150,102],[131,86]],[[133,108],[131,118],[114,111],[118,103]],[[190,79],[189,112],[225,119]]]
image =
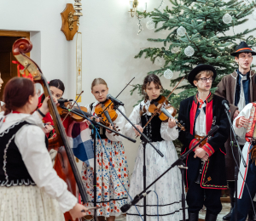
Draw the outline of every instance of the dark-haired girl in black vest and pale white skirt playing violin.
[[[131,112],[129,119],[136,127],[150,139],[154,146],[161,151],[161,157],[150,144],[146,144],[146,186],[151,184],[156,178],[160,177],[168,167],[177,160],[177,152],[172,140],[177,139],[178,131],[174,119],[161,122],[158,116],[154,116],[148,126],[143,129],[152,113],[148,111],[149,105],[160,98],[163,91],[159,77],[148,75],[143,82],[144,100]],[[140,135],[130,123],[125,125],[125,135],[135,137]],[[141,138],[142,139],[142,138]],[[131,186],[129,193],[134,198],[143,191],[143,144],[139,145],[135,167],[131,175]],[[177,221],[183,219],[182,213],[182,182],[181,173],[177,167],[172,168],[163,178],[160,178],[150,190],[154,190],[157,195],[151,192],[147,195],[147,220],[157,220],[157,207],[159,208],[159,220]],[[137,203],[137,209],[143,216],[143,200]],[[131,207],[127,212],[127,220],[141,220],[136,207]]]

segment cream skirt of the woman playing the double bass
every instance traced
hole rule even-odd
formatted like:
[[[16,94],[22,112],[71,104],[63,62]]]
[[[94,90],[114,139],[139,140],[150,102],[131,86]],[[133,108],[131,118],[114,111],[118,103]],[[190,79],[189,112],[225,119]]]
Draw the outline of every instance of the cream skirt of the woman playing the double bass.
[[[36,185],[0,187],[1,221],[64,221],[58,201]]]

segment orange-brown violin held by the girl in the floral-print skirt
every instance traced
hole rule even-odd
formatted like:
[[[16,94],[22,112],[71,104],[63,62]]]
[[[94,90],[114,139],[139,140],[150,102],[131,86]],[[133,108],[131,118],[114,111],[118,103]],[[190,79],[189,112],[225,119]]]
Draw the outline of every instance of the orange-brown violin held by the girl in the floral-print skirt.
[[[107,127],[109,127],[109,125],[112,125],[115,131],[120,131],[117,130],[118,127],[115,127],[115,125],[113,124],[115,119],[118,117],[118,114],[114,110],[113,102],[110,99],[106,99],[104,102],[96,105],[95,113],[97,116],[102,117],[101,122],[103,125]]]

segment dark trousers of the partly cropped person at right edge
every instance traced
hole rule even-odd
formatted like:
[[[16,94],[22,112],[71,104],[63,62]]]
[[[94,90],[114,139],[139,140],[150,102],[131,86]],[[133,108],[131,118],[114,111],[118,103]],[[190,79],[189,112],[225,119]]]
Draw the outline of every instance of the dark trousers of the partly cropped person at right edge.
[[[247,220],[247,215],[252,207],[252,201],[253,197],[256,193],[256,166],[255,163],[251,160],[248,164],[248,171],[247,171],[247,178],[246,178],[246,184],[243,188],[243,192],[241,195],[241,199],[237,199],[237,221],[244,221]],[[238,174],[238,176],[241,176]],[[248,191],[249,190],[249,191]],[[238,190],[239,192],[239,190]],[[251,195],[251,197],[250,197]],[[235,221],[235,208],[233,209],[231,221]]]

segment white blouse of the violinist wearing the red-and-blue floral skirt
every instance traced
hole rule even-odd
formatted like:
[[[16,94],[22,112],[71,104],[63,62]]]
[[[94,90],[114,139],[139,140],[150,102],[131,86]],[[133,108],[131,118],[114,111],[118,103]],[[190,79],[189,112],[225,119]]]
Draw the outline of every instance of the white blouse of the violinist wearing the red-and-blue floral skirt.
[[[90,110],[90,105],[85,105],[85,107],[88,110],[88,113],[90,113],[91,115],[97,116],[94,111],[95,111],[96,105],[98,105],[98,104],[99,104],[98,101],[94,102],[93,105],[92,105],[92,110]],[[122,111],[125,114],[125,108],[123,106],[119,106],[119,110]],[[119,133],[124,134],[124,132],[125,132],[125,122],[126,122],[125,117],[122,116],[119,113],[119,111],[116,111],[116,113],[118,114],[118,117],[114,121],[115,126],[118,127],[118,130],[120,130]],[[106,137],[111,141],[122,141],[124,139],[121,136],[113,136],[113,134],[114,133],[108,133],[106,131]]]

